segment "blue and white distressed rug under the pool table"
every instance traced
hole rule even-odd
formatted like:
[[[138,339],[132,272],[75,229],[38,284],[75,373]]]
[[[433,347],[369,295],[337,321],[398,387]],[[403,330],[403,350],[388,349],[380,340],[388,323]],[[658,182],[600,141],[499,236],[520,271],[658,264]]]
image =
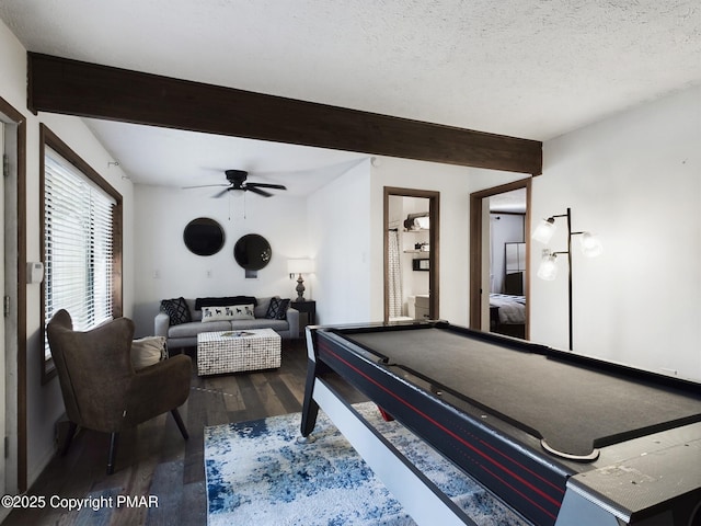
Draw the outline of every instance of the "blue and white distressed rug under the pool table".
[[[372,403],[355,405],[480,526],[526,525]],[[311,444],[301,415],[205,427],[207,523],[219,525],[413,525],[323,412]]]

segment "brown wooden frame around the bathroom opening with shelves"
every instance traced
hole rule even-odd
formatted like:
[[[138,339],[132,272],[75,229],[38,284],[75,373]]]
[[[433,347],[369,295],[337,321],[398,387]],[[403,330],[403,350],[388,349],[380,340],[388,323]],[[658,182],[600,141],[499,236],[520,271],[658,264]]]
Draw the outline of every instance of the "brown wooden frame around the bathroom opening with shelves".
[[[415,190],[415,188],[401,188],[397,186],[384,186],[383,188],[383,206],[382,206],[382,244],[383,244],[383,282],[384,282],[384,322],[389,322],[390,308],[389,308],[389,243],[387,231],[389,230],[389,203],[390,195],[400,197],[422,197],[428,199],[428,220],[430,228],[428,231],[428,316],[432,320],[438,319],[439,305],[440,305],[440,291],[438,284],[439,270],[440,270],[440,192],[433,190]]]

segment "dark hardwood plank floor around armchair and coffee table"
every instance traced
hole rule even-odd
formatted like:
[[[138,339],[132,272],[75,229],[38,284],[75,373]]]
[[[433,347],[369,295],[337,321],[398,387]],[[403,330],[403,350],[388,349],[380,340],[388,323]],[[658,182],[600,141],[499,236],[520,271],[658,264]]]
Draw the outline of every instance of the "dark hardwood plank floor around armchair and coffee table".
[[[14,510],[2,523],[14,525],[205,525],[205,426],[256,420],[301,411],[307,374],[307,352],[302,341],[283,343],[279,369],[198,377],[194,350],[189,399],[180,409],[189,439],[184,441],[173,418],[163,414],[122,433],[115,473],[105,473],[108,435],[79,431],[70,450],[55,456],[27,491],[44,496],[44,508]],[[347,388],[352,401],[361,397]],[[94,499],[95,507],[68,511],[50,502],[58,499]],[[154,495],[158,507],[116,507],[117,496]],[[99,499],[113,506],[101,507]],[[146,503],[145,503],[146,504]]]

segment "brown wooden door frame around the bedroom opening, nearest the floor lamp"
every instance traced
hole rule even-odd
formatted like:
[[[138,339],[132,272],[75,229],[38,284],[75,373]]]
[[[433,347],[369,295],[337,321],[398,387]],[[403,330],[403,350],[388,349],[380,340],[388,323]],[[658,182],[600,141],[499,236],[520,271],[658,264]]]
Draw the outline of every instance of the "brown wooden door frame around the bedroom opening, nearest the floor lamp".
[[[485,197],[526,188],[524,228],[530,232],[530,196],[532,178],[520,179],[470,194],[470,329],[482,330],[482,203]],[[530,241],[526,237],[526,298],[530,298]],[[530,338],[530,301],[526,300],[526,340]]]

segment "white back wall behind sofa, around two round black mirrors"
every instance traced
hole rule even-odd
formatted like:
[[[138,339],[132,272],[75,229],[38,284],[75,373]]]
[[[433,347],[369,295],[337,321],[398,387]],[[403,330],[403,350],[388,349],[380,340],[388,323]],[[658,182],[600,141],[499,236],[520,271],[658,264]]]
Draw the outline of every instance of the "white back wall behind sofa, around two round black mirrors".
[[[164,298],[239,294],[297,297],[287,260],[310,255],[306,199],[284,192],[269,198],[240,192],[211,198],[212,193],[212,188],[136,185],[137,334],[153,333],[153,317]],[[196,255],[185,247],[183,231],[198,217],[215,219],[225,231],[225,245],[214,255]],[[263,236],[273,249],[271,262],[257,271],[257,278],[246,278],[233,259],[237,240],[246,233]],[[307,282],[310,288],[312,284]]]

